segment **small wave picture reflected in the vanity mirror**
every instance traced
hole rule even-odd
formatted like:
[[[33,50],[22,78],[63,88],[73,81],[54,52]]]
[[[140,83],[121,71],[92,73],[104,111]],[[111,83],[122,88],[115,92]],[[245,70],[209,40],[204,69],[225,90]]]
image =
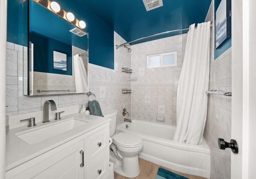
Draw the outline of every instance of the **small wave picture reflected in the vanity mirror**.
[[[67,71],[67,54],[60,51],[53,51],[53,69]]]

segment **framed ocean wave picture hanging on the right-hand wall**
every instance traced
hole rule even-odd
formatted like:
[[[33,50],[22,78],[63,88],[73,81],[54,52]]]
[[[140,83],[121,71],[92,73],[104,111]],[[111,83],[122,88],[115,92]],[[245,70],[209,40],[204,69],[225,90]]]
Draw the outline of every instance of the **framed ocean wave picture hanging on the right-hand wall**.
[[[215,49],[230,37],[230,0],[221,0],[215,12]]]

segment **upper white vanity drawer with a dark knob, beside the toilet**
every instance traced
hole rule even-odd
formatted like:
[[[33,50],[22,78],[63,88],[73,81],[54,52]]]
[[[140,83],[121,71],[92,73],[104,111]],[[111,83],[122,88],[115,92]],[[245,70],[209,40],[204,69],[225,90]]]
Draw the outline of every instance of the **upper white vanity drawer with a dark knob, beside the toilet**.
[[[108,150],[108,128],[104,128],[86,138],[86,166]]]

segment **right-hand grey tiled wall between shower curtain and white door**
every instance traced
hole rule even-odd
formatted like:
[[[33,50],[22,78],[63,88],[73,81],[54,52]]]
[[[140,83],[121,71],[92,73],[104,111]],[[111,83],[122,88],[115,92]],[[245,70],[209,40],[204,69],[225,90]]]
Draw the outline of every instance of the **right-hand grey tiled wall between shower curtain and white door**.
[[[211,4],[206,21],[213,22]],[[214,33],[211,30],[209,90],[231,91],[231,48],[213,60]],[[220,150],[218,138],[231,139],[231,97],[208,94],[208,112],[204,138],[211,150],[211,179],[230,179],[231,150]]]

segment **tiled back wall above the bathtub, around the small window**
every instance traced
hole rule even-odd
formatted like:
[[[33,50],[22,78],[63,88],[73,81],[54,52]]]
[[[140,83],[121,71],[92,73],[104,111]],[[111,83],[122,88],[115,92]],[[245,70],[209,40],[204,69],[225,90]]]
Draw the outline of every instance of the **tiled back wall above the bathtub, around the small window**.
[[[187,33],[131,46],[132,119],[156,122],[164,116],[164,124],[176,125],[176,98]],[[178,65],[147,69],[147,55],[178,51]]]

